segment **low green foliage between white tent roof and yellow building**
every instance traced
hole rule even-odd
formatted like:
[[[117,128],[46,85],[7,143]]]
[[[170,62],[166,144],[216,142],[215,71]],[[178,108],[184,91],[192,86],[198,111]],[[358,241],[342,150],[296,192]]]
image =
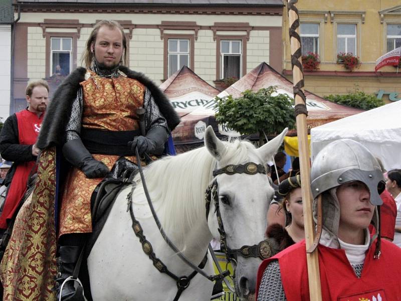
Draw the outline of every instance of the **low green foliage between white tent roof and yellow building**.
[[[324,98],[339,103],[345,104],[354,108],[370,110],[377,108],[384,104],[382,99],[378,99],[376,96],[372,94],[366,94],[365,92],[356,90],[354,93],[349,93],[345,95],[328,95],[324,96]]]

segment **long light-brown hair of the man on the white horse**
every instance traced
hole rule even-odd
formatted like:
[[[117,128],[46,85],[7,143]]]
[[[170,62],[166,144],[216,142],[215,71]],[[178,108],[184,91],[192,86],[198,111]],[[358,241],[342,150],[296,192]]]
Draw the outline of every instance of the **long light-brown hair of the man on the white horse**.
[[[96,23],[95,27],[93,28],[88,41],[86,41],[86,47],[85,47],[85,51],[82,54],[82,64],[84,67],[86,68],[90,68],[90,66],[92,65],[92,61],[94,58],[94,54],[91,50],[91,46],[92,43],[95,44],[96,42],[96,37],[97,37],[97,33],[99,32],[99,29],[102,26],[108,26],[110,29],[113,28],[118,28],[121,31],[121,35],[122,35],[122,47],[123,47],[123,54],[121,56],[121,61],[120,64],[126,66],[128,61],[127,61],[127,41],[125,39],[125,34],[124,34],[124,29],[122,28],[122,26],[120,25],[120,23],[113,21],[113,20],[102,20],[99,21],[98,23]]]

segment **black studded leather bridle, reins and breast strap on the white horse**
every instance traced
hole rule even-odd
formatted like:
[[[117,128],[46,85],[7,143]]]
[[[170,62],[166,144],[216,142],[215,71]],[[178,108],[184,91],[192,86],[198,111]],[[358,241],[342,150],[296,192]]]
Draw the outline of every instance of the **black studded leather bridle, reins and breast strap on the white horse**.
[[[142,167],[141,167],[141,160],[138,154],[138,150],[135,149],[135,155],[136,155],[136,160],[138,163],[138,169],[139,169],[139,174],[142,180],[142,185],[143,185],[143,190],[150,208],[150,211],[152,212],[153,218],[156,222],[156,225],[160,231],[161,236],[163,237],[164,241],[167,243],[167,245],[177,254],[177,256],[184,261],[188,266],[190,266],[193,269],[193,272],[189,276],[177,276],[173,274],[171,271],[168,270],[167,266],[159,259],[156,257],[154,250],[152,248],[151,243],[146,240],[146,237],[143,233],[143,229],[141,225],[139,224],[139,221],[135,218],[134,216],[134,210],[133,210],[133,202],[132,202],[132,194],[135,189],[135,185],[132,185],[131,192],[127,195],[127,211],[129,211],[131,220],[132,220],[132,229],[134,230],[135,235],[139,238],[139,241],[142,244],[142,249],[145,252],[146,255],[148,255],[149,259],[152,260],[153,265],[156,267],[156,269],[161,272],[167,274],[169,277],[174,279],[177,284],[177,293],[174,297],[173,301],[177,301],[178,298],[180,297],[181,293],[189,286],[190,280],[195,276],[196,273],[199,273],[200,275],[206,277],[210,281],[216,281],[216,280],[225,280],[225,277],[230,275],[229,270],[222,271],[220,268],[219,263],[218,265],[218,270],[219,274],[216,275],[208,275],[205,273],[203,268],[206,265],[206,260],[207,260],[207,254],[205,255],[204,259],[202,262],[196,266],[192,262],[190,262],[179,250],[178,248],[171,242],[171,240],[167,237],[166,233],[164,232],[163,228],[161,227],[160,221],[156,215],[156,212],[153,208],[152,202],[150,200],[149,192],[146,187],[146,182],[145,178],[143,175]],[[256,163],[247,163],[245,165],[228,165],[225,168],[215,170],[213,172],[213,176],[215,177],[215,181],[208,187],[206,190],[206,219],[208,219],[209,215],[209,210],[210,210],[210,203],[212,200],[215,202],[215,209],[216,209],[216,215],[218,219],[218,224],[219,224],[219,232],[221,236],[221,243],[222,243],[222,248],[224,249],[224,252],[226,254],[226,259],[227,261],[236,261],[237,255],[241,255],[243,257],[260,257],[262,260],[265,258],[270,257],[271,255],[271,248],[270,245],[267,241],[261,241],[257,245],[253,246],[243,246],[240,249],[230,249],[227,246],[227,241],[226,241],[226,232],[224,231],[223,227],[223,221],[222,217],[220,214],[220,209],[219,209],[219,194],[218,194],[218,184],[216,180],[216,176],[220,174],[228,174],[228,175],[234,175],[234,174],[242,174],[246,173],[248,175],[255,175],[257,173],[261,174],[266,174],[265,168],[263,165],[256,164]],[[211,251],[212,257],[215,259],[215,255],[213,254],[213,249],[209,245],[209,250]],[[216,261],[216,260],[215,260]],[[226,280],[225,280],[226,282]],[[226,282],[227,283],[227,282]]]

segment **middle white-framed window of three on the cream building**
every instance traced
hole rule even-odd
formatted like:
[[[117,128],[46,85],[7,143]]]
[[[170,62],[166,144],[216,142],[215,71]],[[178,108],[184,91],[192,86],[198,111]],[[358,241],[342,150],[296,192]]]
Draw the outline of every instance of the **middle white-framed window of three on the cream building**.
[[[168,76],[182,66],[189,66],[189,40],[168,39]]]

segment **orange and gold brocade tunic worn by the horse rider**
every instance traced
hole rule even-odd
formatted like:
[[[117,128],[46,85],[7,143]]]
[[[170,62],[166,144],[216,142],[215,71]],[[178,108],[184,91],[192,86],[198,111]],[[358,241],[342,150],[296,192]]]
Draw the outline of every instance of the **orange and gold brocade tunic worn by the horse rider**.
[[[139,128],[136,109],[143,106],[145,86],[124,74],[101,77],[88,71],[81,82],[83,95],[82,128],[128,131]],[[133,138],[133,137],[132,137]],[[92,155],[111,169],[120,156]],[[134,158],[128,157],[135,162]],[[88,179],[78,168],[72,168],[64,190],[60,211],[59,237],[68,233],[92,232],[90,198],[102,179]]]

